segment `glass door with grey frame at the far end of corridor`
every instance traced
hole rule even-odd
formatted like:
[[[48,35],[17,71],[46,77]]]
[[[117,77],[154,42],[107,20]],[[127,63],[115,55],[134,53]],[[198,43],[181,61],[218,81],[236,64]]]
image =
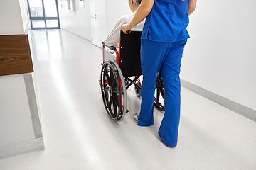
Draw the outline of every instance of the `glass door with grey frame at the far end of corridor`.
[[[57,0],[28,0],[32,30],[60,29]]]

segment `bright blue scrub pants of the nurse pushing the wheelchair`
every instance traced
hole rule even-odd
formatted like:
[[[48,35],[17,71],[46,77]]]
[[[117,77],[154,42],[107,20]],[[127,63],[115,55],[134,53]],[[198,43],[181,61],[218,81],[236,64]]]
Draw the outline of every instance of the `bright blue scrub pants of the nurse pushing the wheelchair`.
[[[142,39],[142,104],[139,126],[154,124],[154,93],[157,73],[161,69],[164,81],[164,118],[159,136],[166,146],[176,147],[181,110],[180,68],[181,58],[187,40],[174,43],[155,42]]]

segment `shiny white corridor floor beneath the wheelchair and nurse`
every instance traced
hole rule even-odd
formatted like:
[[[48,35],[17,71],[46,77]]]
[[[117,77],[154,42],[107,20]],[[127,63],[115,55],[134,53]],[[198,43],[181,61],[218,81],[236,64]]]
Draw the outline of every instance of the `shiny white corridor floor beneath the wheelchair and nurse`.
[[[0,161],[0,169],[256,169],[256,123],[181,89],[178,146],[165,147],[155,124],[137,126],[140,99],[108,118],[100,94],[101,50],[65,31],[33,31],[46,149]],[[185,56],[186,57],[186,56]]]

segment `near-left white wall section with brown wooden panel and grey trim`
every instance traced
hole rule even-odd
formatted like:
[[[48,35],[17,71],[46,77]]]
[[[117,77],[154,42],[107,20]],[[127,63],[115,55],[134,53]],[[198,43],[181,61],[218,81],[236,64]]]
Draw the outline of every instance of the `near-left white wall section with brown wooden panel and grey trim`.
[[[44,142],[36,77],[32,73],[33,48],[26,39],[26,0],[0,1],[0,23],[0,159],[4,159],[44,149]],[[26,57],[31,62],[24,62]],[[17,69],[24,64],[29,64],[31,70]]]

